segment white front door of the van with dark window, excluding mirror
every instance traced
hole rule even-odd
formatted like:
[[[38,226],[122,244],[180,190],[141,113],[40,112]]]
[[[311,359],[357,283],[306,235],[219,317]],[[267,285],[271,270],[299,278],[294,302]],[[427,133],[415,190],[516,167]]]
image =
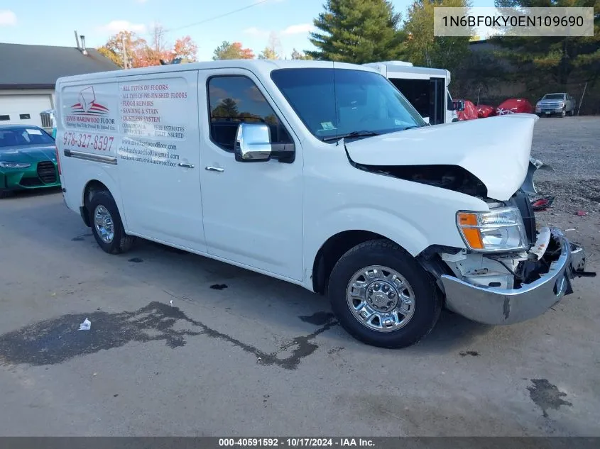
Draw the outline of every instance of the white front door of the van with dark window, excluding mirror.
[[[247,70],[199,72],[200,184],[209,254],[302,279],[302,150],[258,79]],[[241,122],[266,123],[271,143],[295,143],[291,163],[236,162]]]

